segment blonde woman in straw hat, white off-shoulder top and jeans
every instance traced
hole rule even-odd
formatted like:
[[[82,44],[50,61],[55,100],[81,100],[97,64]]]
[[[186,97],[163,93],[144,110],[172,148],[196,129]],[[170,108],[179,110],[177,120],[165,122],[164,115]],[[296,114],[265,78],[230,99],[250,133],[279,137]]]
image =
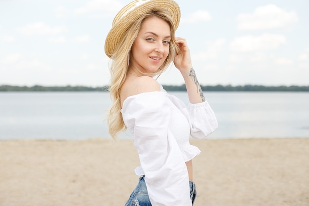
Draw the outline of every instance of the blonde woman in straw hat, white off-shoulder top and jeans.
[[[189,136],[204,138],[218,125],[197,82],[187,42],[175,38],[179,20],[173,0],[134,0],[118,12],[105,42],[113,60],[110,134],[116,138],[128,129],[141,163],[135,169],[139,183],[125,206],[192,206],[192,159],[200,151]],[[186,84],[187,107],[153,79],[172,61]]]

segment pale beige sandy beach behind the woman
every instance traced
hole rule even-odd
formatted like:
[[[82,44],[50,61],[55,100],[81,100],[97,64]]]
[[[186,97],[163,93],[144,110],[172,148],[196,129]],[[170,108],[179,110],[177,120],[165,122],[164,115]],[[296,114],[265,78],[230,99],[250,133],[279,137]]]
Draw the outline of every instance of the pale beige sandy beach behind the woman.
[[[309,206],[309,138],[191,140],[194,206]],[[123,206],[131,140],[0,141],[0,206]]]

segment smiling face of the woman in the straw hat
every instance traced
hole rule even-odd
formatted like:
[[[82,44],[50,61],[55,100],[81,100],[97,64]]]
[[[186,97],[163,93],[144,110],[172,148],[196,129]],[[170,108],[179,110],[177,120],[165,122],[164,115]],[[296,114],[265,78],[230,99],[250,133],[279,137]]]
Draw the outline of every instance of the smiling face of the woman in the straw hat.
[[[146,18],[131,47],[129,69],[152,76],[168,56],[170,35],[166,21],[155,16]]]

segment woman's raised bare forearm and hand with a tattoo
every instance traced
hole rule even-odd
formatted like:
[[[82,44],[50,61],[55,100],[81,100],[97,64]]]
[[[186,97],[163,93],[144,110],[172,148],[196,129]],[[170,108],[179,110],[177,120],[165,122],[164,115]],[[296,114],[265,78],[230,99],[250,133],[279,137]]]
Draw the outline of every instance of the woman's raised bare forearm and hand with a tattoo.
[[[190,103],[204,102],[205,97],[192,66],[187,41],[183,38],[176,38],[175,43],[179,46],[180,53],[174,58],[174,64],[184,78]]]

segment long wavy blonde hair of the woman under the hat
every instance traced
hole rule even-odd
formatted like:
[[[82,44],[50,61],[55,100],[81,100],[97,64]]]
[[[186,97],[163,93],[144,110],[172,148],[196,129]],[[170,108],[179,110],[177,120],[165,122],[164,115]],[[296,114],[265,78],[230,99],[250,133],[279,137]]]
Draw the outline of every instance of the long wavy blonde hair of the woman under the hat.
[[[111,72],[111,82],[110,82],[110,94],[112,99],[112,106],[107,115],[107,121],[109,124],[109,133],[111,136],[116,139],[117,134],[125,131],[126,126],[123,122],[122,115],[120,112],[121,109],[121,100],[120,100],[120,90],[123,85],[123,82],[126,78],[126,73],[128,70],[128,62],[129,62],[129,53],[130,49],[135,41],[138,32],[141,28],[141,25],[144,19],[156,16],[163,20],[165,20],[171,30],[171,40],[169,44],[169,54],[166,60],[163,62],[161,68],[159,68],[155,75],[159,75],[161,72],[165,71],[166,68],[173,61],[176,54],[179,53],[179,48],[175,43],[175,26],[173,23],[173,18],[169,12],[167,12],[164,8],[155,8],[150,13],[143,14],[139,19],[133,21],[130,28],[125,32],[121,41],[117,45],[117,48],[111,57],[113,60],[110,66]]]

